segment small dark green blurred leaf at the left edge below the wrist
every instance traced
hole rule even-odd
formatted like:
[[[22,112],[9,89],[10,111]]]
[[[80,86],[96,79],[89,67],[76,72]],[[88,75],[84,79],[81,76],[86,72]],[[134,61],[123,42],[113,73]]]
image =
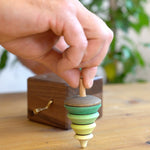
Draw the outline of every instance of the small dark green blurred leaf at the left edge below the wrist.
[[[8,61],[8,52],[6,50],[2,50],[2,54],[0,55],[0,71],[5,68]]]

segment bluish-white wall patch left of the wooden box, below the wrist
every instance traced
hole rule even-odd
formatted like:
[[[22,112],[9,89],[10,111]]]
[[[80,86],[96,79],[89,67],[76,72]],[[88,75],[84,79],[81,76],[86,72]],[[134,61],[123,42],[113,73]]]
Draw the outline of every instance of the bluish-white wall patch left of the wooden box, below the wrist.
[[[27,78],[34,74],[19,62],[12,64],[14,55],[10,54],[9,58],[7,67],[0,72],[0,93],[26,91]]]

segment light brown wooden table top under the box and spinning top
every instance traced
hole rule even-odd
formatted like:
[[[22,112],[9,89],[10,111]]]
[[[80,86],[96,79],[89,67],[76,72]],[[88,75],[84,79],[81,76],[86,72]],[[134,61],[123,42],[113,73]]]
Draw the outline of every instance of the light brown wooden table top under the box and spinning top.
[[[0,95],[0,150],[78,150],[72,130],[27,119],[25,93]],[[104,86],[103,118],[86,150],[150,149],[150,83]]]

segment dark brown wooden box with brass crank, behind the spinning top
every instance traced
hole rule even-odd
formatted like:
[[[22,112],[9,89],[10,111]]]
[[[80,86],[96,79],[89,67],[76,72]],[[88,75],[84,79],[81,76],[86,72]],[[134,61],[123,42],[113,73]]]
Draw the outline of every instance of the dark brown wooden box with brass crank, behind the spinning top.
[[[102,100],[102,78],[95,77],[94,85],[87,90],[88,95],[96,94]],[[67,118],[67,110],[64,100],[67,97],[79,95],[79,89],[71,88],[57,75],[44,74],[28,79],[28,118],[32,121],[55,126],[62,129],[70,129],[71,121]],[[52,104],[45,108],[48,102]],[[103,104],[103,100],[101,101]],[[36,110],[43,110],[36,112]],[[99,110],[102,116],[102,107]]]

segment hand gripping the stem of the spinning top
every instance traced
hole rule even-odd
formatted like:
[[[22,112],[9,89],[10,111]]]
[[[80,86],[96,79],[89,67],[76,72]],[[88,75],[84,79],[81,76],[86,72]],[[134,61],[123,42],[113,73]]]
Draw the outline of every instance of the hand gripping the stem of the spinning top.
[[[34,72],[52,71],[74,88],[80,76],[92,86],[112,39],[78,0],[0,0],[0,44]]]

